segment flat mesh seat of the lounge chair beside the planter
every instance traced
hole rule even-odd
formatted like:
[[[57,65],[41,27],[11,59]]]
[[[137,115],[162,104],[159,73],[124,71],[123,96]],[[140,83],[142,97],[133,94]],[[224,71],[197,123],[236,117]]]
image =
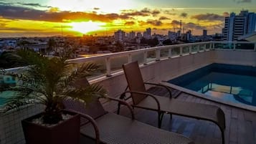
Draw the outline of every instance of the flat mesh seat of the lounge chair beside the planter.
[[[184,135],[161,130],[151,125],[146,125],[136,120],[131,120],[131,118],[116,115],[111,112],[108,112],[108,114],[103,115],[102,117],[98,117],[95,121],[99,128],[100,140],[103,141],[103,143],[192,143],[191,140]],[[84,125],[80,131],[83,135],[95,138],[93,125]]]

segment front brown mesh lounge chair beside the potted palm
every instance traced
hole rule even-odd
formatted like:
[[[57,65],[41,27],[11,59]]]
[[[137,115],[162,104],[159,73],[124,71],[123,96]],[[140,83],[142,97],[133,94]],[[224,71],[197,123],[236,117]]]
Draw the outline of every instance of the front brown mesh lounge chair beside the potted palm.
[[[85,80],[85,84],[89,85],[87,80]],[[126,105],[131,111],[131,118],[105,111],[99,100],[90,102],[87,107],[76,100],[66,99],[63,102],[67,110],[80,113],[82,119],[80,132],[87,138],[94,139],[95,143],[193,144],[189,138],[183,135],[134,120],[132,107],[127,102],[113,97],[107,98]]]

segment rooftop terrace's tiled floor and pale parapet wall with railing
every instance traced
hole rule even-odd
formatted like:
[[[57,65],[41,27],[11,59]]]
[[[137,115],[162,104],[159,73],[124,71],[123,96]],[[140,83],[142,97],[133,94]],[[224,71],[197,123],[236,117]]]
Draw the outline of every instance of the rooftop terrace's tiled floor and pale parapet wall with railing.
[[[163,82],[174,77],[191,72],[194,69],[208,64],[241,64],[256,66],[256,44],[248,42],[202,42],[194,44],[179,44],[148,49],[138,49],[129,52],[105,54],[96,57],[70,59],[70,62],[97,62],[101,64],[102,72],[96,77],[90,78],[90,82],[100,82],[111,97],[119,97],[125,90],[126,81],[121,65],[126,62],[138,60],[141,64],[143,79],[147,82]],[[16,71],[19,69],[9,69]],[[234,105],[230,102],[216,99],[206,99],[204,95],[184,90],[182,87],[170,85],[181,90],[177,99],[188,102],[200,102],[210,105],[218,105],[222,108],[226,117],[227,128],[225,130],[226,143],[255,143],[256,141],[256,108],[247,105]],[[165,92],[162,92],[163,94]],[[115,111],[115,102],[103,102],[109,111]],[[20,120],[40,111],[37,109],[24,109],[0,116],[0,144],[24,143]],[[23,112],[23,113],[22,113]],[[147,110],[135,109],[136,120],[149,125],[157,126],[157,113]],[[22,115],[22,116],[21,116]],[[128,111],[123,109],[121,115],[128,116]],[[19,117],[21,116],[21,117]],[[11,126],[9,126],[11,125]],[[14,126],[16,128],[14,128]],[[217,125],[203,120],[174,115],[164,115],[162,128],[175,133],[188,136],[196,143],[221,143],[221,133]]]

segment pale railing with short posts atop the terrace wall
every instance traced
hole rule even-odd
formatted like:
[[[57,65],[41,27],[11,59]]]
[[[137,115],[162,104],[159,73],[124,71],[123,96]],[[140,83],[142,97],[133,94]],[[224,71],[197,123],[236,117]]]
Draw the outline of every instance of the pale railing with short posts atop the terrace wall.
[[[208,44],[208,45],[207,45]],[[256,51],[256,43],[255,42],[196,42],[196,43],[186,43],[186,44],[175,44],[175,45],[167,45],[167,46],[160,46],[160,47],[151,47],[146,49],[136,49],[126,52],[117,52],[117,53],[111,53],[111,54],[103,54],[93,57],[82,57],[77,59],[69,59],[67,62],[72,63],[83,63],[83,62],[91,62],[91,61],[97,61],[97,60],[104,60],[105,61],[105,75],[111,76],[111,59],[116,57],[127,57],[127,62],[132,62],[132,55],[134,54],[143,54],[143,64],[147,64],[148,59],[148,52],[155,51],[156,57],[154,58],[156,61],[159,61],[161,59],[166,58],[173,58],[173,57],[182,57],[183,54],[194,54],[197,52],[205,52],[212,49],[222,49],[223,47],[216,47],[216,44],[233,44],[232,47],[228,47],[229,50],[237,50],[236,44],[254,44],[253,49],[249,49],[250,51]],[[195,47],[196,46],[196,47]],[[175,48],[175,49],[174,49]],[[183,53],[184,48],[186,48],[186,53]],[[161,57],[161,49],[168,49],[168,53],[164,57]],[[248,49],[239,49],[239,50],[245,50],[248,51]],[[176,55],[174,55],[174,52],[176,52]],[[9,72],[15,72],[16,70],[24,69],[24,67],[15,67],[11,69],[6,69],[6,71]],[[120,67],[121,69],[121,67]]]

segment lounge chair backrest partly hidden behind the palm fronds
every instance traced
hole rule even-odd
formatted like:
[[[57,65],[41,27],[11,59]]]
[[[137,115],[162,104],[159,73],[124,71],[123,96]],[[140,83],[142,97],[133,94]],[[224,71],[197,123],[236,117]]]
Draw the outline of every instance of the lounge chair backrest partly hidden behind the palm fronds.
[[[76,80],[73,84],[73,86],[77,88],[86,87],[88,85],[90,85],[90,83],[87,81],[86,78]],[[85,105],[83,102],[80,102],[79,100],[72,100],[70,98],[67,98],[63,100],[63,105],[66,109],[82,112],[85,115],[90,115],[94,119],[107,113],[98,99],[92,100],[92,102],[89,102],[87,105]]]

